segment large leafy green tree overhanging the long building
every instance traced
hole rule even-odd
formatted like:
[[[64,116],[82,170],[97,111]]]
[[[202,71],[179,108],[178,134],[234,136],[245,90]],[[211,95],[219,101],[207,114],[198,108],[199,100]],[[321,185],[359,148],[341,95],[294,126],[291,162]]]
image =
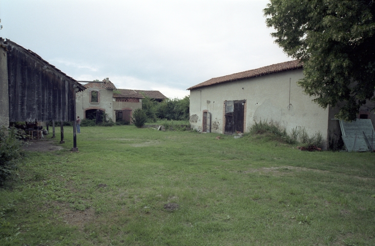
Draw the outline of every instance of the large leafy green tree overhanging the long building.
[[[339,119],[355,120],[375,100],[375,1],[270,1],[263,11],[271,36],[303,62],[298,83],[320,106],[341,106]]]

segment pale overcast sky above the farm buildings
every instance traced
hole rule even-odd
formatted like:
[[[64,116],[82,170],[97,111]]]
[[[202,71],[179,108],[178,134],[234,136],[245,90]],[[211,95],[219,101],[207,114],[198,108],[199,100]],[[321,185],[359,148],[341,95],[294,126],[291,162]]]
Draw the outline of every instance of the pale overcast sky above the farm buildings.
[[[195,84],[292,60],[267,0],[0,0],[0,37],[78,81],[188,95]]]

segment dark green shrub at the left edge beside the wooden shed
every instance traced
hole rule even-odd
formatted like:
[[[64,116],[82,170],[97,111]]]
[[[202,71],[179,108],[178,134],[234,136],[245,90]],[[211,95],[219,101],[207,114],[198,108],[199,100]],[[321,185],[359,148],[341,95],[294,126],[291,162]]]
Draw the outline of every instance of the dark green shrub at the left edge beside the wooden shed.
[[[17,160],[23,154],[22,135],[15,127],[0,128],[0,185],[17,169]]]

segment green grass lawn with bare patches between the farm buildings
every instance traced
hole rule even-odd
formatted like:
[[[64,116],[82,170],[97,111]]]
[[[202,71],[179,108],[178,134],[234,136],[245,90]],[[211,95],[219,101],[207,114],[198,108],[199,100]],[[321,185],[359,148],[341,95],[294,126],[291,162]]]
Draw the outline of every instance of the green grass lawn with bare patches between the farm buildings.
[[[64,129],[0,188],[0,245],[375,245],[373,153],[133,125],[71,153]]]

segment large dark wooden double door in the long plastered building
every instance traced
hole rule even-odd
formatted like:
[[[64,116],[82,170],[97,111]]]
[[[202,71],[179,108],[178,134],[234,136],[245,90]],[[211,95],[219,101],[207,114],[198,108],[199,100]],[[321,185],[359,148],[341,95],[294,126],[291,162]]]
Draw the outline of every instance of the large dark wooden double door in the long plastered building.
[[[244,132],[245,100],[225,102],[224,133]]]

